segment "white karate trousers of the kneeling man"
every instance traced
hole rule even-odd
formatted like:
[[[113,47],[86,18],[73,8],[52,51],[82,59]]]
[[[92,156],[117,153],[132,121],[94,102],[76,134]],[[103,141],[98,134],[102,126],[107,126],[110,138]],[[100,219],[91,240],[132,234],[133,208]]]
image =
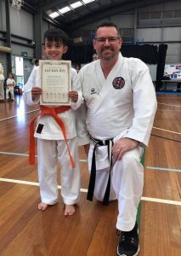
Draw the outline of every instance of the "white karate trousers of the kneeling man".
[[[133,230],[136,221],[144,186],[144,167],[140,163],[143,151],[141,147],[128,151],[111,170],[110,201],[118,200],[118,230]],[[96,172],[94,196],[99,201],[104,199],[108,176],[109,168]]]

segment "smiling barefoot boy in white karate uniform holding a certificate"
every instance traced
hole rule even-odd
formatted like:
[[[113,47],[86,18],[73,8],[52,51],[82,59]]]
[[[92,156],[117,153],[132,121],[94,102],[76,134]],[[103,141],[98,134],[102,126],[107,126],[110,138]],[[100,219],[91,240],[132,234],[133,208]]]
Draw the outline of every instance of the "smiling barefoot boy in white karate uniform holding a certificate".
[[[49,29],[44,34],[44,54],[49,60],[58,61],[67,51],[68,37],[59,29]],[[71,68],[72,87],[76,79],[76,70]],[[39,87],[39,67],[34,67],[28,82],[24,88],[24,100],[28,105],[39,103],[42,90]],[[37,120],[37,128],[34,134],[37,137],[37,165],[42,201],[38,209],[45,211],[48,205],[54,205],[58,201],[57,190],[57,162],[61,165],[61,195],[65,203],[65,216],[75,212],[74,205],[79,201],[80,170],[79,156],[76,142],[75,113],[82,102],[81,93],[76,90],[69,92],[71,108],[57,116],[64,122],[66,138],[58,123],[51,115],[42,115]],[[51,108],[51,106],[48,106]],[[59,107],[59,106],[55,106]],[[41,108],[41,106],[40,106]],[[48,109],[49,109],[48,108]],[[66,145],[67,143],[67,145]],[[71,168],[70,149],[75,168]]]

